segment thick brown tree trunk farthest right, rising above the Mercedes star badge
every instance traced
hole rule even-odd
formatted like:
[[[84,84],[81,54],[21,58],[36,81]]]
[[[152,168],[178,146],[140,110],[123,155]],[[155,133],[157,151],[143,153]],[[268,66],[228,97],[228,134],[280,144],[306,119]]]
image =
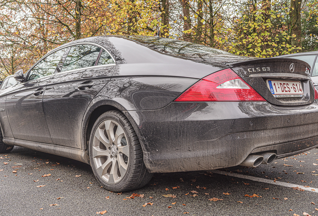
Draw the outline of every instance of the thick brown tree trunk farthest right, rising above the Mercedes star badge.
[[[290,0],[290,35],[296,36],[291,38],[291,45],[301,49],[301,0]]]

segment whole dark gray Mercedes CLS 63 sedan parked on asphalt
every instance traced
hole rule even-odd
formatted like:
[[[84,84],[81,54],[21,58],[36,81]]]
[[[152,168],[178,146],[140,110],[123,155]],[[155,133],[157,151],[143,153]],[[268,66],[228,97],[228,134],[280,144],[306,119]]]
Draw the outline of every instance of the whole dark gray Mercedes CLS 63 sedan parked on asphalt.
[[[310,65],[149,36],[61,45],[0,93],[0,152],[88,163],[112,191],[154,172],[255,167],[318,145]]]

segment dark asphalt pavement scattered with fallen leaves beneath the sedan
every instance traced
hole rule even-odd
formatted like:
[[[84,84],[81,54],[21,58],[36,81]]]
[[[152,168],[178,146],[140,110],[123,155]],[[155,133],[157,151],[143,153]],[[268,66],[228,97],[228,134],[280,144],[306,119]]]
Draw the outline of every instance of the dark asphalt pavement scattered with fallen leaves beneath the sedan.
[[[318,149],[256,168],[158,173],[119,194],[88,164],[15,146],[0,154],[0,197],[0,215],[318,215]]]

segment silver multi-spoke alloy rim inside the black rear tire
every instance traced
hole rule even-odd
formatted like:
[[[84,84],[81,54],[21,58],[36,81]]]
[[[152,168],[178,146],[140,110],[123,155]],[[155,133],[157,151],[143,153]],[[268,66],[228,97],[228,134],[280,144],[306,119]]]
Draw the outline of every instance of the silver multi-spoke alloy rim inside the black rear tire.
[[[95,130],[92,157],[98,175],[107,183],[116,183],[125,175],[129,146],[123,128],[114,120],[101,122]]]

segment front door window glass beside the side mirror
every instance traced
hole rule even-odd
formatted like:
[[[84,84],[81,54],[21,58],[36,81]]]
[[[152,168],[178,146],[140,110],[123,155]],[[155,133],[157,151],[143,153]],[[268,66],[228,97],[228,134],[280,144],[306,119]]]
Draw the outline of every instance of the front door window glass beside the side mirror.
[[[29,72],[27,80],[51,75],[54,73],[56,66],[64,54],[66,48],[60,49],[38,62]]]

